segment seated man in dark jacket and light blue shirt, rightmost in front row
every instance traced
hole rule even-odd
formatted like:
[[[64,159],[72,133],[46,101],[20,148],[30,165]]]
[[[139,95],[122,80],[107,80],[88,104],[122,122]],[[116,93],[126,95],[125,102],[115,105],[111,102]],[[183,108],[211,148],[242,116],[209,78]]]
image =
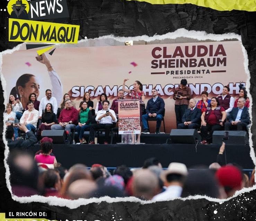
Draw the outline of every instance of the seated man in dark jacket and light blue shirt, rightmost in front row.
[[[245,107],[245,98],[238,99],[237,107],[232,109],[228,121],[225,123],[225,131],[246,131],[246,127],[250,123],[250,115],[248,107]]]

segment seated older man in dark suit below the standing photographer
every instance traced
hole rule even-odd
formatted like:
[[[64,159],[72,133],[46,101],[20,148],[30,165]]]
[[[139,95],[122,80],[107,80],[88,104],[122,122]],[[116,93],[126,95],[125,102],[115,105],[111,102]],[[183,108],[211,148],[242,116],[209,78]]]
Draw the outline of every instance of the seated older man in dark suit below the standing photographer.
[[[200,127],[201,123],[201,109],[196,107],[196,101],[195,99],[190,99],[189,108],[186,109],[181,124],[178,124],[178,129],[196,129]]]

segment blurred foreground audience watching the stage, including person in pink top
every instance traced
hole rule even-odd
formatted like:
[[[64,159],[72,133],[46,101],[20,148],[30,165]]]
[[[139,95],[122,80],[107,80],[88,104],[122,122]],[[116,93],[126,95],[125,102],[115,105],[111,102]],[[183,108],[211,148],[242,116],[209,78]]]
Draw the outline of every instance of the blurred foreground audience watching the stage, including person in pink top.
[[[52,139],[44,137],[35,156],[12,151],[8,157],[12,193],[17,196],[57,196],[76,200],[135,196],[141,200],[166,201],[194,195],[226,199],[242,188],[254,185],[251,177],[236,164],[225,165],[222,143],[216,162],[187,169],[171,162],[166,170],[155,157],[145,160],[141,168],[125,165],[108,171],[104,165],[87,167],[75,164],[64,168],[53,154]]]

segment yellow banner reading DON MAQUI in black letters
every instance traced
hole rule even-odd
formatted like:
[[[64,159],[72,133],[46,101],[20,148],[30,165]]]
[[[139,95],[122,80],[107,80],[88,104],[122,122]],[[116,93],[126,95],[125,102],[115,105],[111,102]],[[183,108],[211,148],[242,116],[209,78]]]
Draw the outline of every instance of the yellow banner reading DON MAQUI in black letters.
[[[79,27],[9,18],[9,41],[77,44]]]

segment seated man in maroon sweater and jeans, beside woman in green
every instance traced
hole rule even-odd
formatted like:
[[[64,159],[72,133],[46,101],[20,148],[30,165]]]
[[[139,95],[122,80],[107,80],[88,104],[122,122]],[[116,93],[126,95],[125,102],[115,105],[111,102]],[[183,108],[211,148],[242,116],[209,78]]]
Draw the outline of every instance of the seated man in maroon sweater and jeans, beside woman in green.
[[[63,130],[71,133],[71,129],[76,128],[78,118],[78,111],[76,108],[71,106],[71,100],[65,100],[65,108],[61,111],[58,122],[51,126],[52,130]]]

